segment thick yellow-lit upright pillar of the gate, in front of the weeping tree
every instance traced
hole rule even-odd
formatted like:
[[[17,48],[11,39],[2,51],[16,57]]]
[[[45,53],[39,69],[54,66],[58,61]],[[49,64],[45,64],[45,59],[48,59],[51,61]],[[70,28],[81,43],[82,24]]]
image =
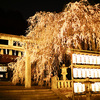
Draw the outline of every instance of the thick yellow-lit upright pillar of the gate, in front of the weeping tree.
[[[25,52],[25,88],[31,88],[31,62],[28,50]]]

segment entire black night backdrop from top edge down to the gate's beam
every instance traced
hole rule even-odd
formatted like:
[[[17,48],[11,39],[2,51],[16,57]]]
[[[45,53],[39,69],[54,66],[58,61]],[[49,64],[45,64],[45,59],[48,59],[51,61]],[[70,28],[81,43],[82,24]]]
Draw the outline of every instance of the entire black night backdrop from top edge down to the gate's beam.
[[[37,11],[60,12],[70,1],[75,0],[0,0],[0,32],[24,34],[30,16]],[[100,0],[88,1],[100,3]]]

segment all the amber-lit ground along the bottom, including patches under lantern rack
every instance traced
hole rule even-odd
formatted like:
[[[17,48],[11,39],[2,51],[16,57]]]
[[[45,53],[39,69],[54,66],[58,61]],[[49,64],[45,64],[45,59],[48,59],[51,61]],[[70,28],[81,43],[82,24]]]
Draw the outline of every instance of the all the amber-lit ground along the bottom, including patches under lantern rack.
[[[71,94],[72,91],[68,89],[52,91],[41,86],[26,89],[24,86],[14,86],[11,82],[0,81],[0,100],[72,100],[71,97],[66,97]],[[75,100],[86,100],[86,96],[75,97]],[[92,95],[91,100],[100,100],[100,94]]]

